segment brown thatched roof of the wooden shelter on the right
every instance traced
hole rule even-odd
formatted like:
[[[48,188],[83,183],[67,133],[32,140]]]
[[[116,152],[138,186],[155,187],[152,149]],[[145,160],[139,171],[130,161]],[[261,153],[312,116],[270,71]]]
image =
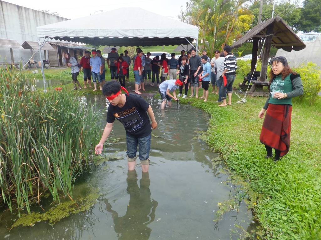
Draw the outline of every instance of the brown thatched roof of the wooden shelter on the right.
[[[265,38],[267,27],[272,23],[274,23],[272,45],[279,49],[282,48],[287,52],[291,52],[292,50],[299,51],[305,48],[305,44],[302,42],[299,36],[293,32],[293,30],[282,20],[281,17],[276,16],[275,18],[260,23],[249,30],[243,37],[241,37],[231,46],[232,49],[240,47],[243,43],[253,37]]]

